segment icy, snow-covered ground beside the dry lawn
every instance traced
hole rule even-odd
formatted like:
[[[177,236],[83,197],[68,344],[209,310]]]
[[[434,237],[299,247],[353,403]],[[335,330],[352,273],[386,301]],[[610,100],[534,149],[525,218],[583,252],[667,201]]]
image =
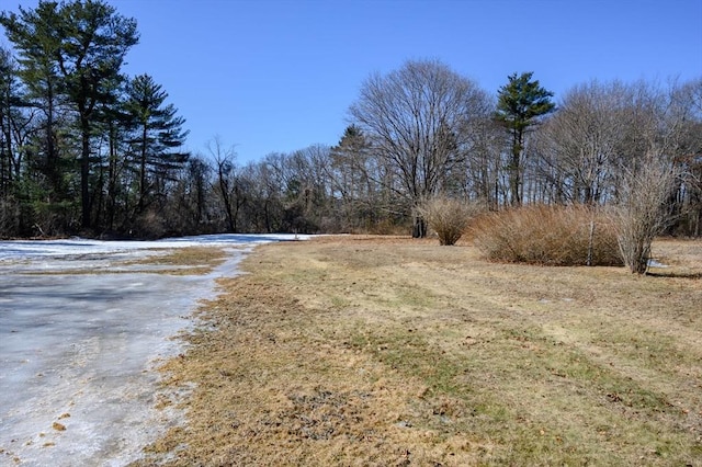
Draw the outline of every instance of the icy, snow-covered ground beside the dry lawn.
[[[293,236],[203,236],[156,242],[0,242],[0,466],[122,466],[169,426],[156,410],[160,360],[192,326],[196,301],[256,243]],[[207,275],[135,272],[154,249],[212,244]],[[99,274],[86,273],[97,272]]]

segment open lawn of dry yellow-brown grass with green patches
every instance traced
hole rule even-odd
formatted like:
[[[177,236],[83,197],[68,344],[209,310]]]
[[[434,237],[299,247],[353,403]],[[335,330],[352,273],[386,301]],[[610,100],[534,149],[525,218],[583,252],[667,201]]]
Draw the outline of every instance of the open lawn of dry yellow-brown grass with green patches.
[[[186,426],[136,465],[701,466],[702,243],[654,255],[667,276],[259,247],[163,368]]]

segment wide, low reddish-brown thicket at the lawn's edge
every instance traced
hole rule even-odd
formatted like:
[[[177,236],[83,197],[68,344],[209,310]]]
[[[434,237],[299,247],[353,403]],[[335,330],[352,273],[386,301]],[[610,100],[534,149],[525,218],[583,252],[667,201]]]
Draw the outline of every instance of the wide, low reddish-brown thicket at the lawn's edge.
[[[488,260],[542,265],[621,265],[611,218],[582,205],[532,205],[487,213],[472,223]]]

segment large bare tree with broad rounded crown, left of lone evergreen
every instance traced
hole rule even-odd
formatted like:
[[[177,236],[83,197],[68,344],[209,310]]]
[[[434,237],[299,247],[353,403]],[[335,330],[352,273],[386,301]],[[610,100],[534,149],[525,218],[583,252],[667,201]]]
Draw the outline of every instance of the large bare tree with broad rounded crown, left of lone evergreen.
[[[466,128],[487,96],[477,84],[434,60],[408,61],[386,76],[373,75],[349,113],[373,151],[396,172],[389,186],[412,213],[439,193],[466,158]],[[424,237],[415,215],[414,237]]]

